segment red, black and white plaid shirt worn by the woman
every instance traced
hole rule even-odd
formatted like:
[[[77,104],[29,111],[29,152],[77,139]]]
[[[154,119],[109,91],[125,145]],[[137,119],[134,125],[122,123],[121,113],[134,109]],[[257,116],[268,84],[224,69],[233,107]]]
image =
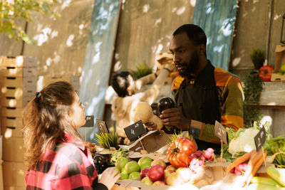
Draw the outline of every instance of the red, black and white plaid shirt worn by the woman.
[[[68,134],[46,150],[35,170],[28,169],[26,189],[108,189],[98,183],[90,150]]]

